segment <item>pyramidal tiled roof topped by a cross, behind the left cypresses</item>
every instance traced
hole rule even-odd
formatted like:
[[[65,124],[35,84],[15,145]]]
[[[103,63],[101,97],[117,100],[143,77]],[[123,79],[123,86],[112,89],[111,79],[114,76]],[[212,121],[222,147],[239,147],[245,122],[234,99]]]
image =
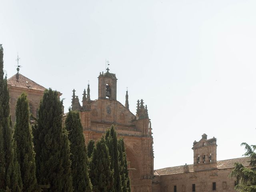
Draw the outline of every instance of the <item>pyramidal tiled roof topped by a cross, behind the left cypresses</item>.
[[[20,87],[20,88],[26,88],[26,89],[34,89],[34,90],[39,90],[39,91],[44,91],[46,88],[43,86],[37,84],[36,82],[30,80],[29,78],[23,76],[22,74],[18,74],[18,79],[17,79],[17,74],[12,76],[7,80],[7,83],[10,84],[11,86],[14,87]]]

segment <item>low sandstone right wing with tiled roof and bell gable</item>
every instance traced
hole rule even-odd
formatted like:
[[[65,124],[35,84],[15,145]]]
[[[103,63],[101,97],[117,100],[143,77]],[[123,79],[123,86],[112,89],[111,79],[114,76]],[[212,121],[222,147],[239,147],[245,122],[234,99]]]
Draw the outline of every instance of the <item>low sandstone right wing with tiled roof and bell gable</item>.
[[[194,164],[155,170],[152,192],[235,192],[234,179],[228,175],[235,162],[249,166],[248,157],[216,160],[216,138],[203,134],[194,141]]]

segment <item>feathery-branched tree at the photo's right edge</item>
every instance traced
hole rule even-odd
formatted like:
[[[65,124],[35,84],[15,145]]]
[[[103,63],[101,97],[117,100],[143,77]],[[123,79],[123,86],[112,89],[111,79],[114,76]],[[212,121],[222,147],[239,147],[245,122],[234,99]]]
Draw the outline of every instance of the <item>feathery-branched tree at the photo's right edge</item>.
[[[250,156],[250,168],[244,167],[241,163],[235,163],[235,168],[229,176],[236,179],[235,190],[256,192],[256,145],[250,146],[247,143],[242,143],[241,146],[245,146],[246,153],[244,156]]]

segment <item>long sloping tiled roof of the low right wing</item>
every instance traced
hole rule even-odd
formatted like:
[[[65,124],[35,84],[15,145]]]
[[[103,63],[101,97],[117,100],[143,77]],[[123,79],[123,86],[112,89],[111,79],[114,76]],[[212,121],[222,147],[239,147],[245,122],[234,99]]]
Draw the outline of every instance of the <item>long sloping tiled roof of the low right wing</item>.
[[[240,162],[244,166],[249,166],[250,157],[236,158],[217,161],[217,169],[234,168],[235,162]],[[194,172],[193,165],[188,165],[189,172]],[[174,175],[184,173],[184,166],[167,167],[154,171],[154,175]]]

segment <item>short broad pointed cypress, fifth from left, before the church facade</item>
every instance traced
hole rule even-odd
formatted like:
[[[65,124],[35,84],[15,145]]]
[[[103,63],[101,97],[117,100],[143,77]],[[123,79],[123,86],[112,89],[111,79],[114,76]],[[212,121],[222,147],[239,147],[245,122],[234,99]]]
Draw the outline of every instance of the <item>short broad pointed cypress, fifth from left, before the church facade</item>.
[[[110,157],[104,137],[96,143],[90,162],[89,176],[93,192],[114,192],[114,170],[110,168]]]

